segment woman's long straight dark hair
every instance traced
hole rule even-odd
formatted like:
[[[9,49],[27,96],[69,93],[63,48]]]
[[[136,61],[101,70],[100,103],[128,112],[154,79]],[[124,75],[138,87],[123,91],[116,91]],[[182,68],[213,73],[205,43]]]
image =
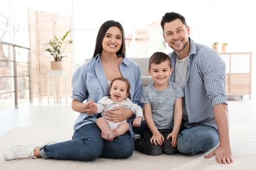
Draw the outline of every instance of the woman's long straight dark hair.
[[[115,22],[114,20],[109,20],[107,22],[104,22],[104,24],[101,25],[100,29],[98,30],[98,35],[96,38],[96,44],[95,44],[95,52],[93,54],[93,58],[96,57],[97,54],[101,54],[102,52],[102,41],[104,39],[104,36],[106,35],[106,31],[110,27],[118,27],[121,30],[122,34],[122,44],[118,52],[116,52],[117,56],[124,57],[125,56],[125,33],[123,31],[123,27],[119,22]]]

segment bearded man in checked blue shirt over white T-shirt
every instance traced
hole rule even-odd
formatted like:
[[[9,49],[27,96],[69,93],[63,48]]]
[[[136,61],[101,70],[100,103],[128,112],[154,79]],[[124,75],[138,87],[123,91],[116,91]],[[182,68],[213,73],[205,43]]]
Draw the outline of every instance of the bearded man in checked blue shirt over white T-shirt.
[[[185,18],[167,12],[161,20],[163,38],[173,48],[170,81],[184,91],[181,133],[178,150],[183,154],[207,152],[219,163],[232,163],[228,130],[225,63],[213,49],[196,44],[190,37]]]

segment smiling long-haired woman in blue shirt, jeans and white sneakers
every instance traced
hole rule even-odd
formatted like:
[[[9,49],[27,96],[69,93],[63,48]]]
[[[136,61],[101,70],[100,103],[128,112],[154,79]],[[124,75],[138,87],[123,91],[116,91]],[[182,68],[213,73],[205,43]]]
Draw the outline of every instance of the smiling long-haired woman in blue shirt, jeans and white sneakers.
[[[74,124],[72,140],[51,143],[45,146],[35,144],[14,146],[4,154],[5,160],[20,158],[56,158],[62,160],[95,160],[96,158],[129,158],[133,154],[133,130],[106,141],[100,137],[93,114],[96,107],[88,107],[83,101],[98,102],[110,95],[109,84],[119,76],[127,78],[131,84],[129,98],[140,105],[142,82],[140,68],[125,56],[125,35],[119,22],[107,21],[100,27],[96,37],[93,58],[79,67],[72,78],[72,109],[81,112]],[[114,111],[115,110],[115,111]],[[112,122],[120,122],[133,116],[131,109],[116,107],[106,116]]]

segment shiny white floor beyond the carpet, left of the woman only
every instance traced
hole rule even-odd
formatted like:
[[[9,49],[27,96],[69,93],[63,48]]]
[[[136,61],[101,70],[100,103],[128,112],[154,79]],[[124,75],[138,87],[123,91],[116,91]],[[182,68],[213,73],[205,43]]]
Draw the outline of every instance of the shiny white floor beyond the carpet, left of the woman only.
[[[64,100],[63,100],[64,101]],[[0,102],[1,103],[1,102]],[[1,104],[2,105],[2,104]],[[18,109],[0,109],[0,136],[14,127],[73,126],[78,113],[66,103],[22,103]]]

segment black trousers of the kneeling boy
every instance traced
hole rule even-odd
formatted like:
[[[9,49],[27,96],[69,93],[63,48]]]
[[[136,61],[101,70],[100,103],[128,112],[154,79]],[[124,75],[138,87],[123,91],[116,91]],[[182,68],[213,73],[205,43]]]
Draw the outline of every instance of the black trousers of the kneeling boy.
[[[144,154],[148,154],[151,156],[157,156],[162,154],[163,152],[168,155],[177,153],[177,148],[171,145],[172,139],[167,139],[167,135],[169,135],[171,131],[173,131],[173,129],[159,129],[159,131],[165,139],[162,145],[155,145],[154,143],[150,143],[150,139],[152,138],[153,134],[151,133],[148,126],[145,126],[143,129],[144,139],[136,139],[135,141],[136,149]]]

